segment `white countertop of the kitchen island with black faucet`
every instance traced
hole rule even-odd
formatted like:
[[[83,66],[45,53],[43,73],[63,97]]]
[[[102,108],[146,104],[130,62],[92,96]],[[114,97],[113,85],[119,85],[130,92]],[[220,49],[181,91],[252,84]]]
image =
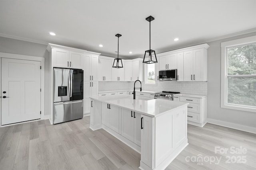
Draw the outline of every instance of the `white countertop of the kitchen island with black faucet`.
[[[132,95],[122,94],[113,96],[92,96],[90,97],[100,102],[112,104],[114,106],[123,107],[137,113],[148,115],[150,117],[158,117],[167,111],[178,107],[187,106],[188,103],[175,102],[163,99],[133,99]]]

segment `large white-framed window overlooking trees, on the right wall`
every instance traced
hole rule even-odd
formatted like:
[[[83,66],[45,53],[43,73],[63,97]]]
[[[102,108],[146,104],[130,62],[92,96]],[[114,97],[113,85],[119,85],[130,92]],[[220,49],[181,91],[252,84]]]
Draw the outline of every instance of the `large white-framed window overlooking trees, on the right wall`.
[[[221,107],[256,112],[256,36],[221,43]]]

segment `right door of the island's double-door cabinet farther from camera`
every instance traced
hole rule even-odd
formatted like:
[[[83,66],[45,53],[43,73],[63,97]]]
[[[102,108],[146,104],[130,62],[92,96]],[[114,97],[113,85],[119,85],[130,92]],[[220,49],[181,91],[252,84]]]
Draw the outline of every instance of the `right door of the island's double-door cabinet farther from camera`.
[[[119,107],[110,105],[110,129],[119,133]]]

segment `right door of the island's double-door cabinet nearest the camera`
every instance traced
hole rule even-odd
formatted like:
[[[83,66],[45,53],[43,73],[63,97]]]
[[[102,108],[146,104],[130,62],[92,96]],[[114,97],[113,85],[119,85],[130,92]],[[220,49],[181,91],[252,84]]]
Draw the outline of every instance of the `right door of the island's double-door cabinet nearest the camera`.
[[[140,146],[140,141],[141,141],[140,113],[133,112],[133,117],[134,117],[134,143]]]

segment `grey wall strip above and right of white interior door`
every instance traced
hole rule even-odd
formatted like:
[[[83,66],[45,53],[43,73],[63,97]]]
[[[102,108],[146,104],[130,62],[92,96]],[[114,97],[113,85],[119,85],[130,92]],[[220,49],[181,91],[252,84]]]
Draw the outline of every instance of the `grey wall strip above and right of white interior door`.
[[[16,39],[10,39],[5,37],[0,37],[0,52],[2,53],[12,53],[12,54],[20,54],[20,55],[30,55],[36,57],[44,57],[44,111],[45,115],[50,114],[50,106],[49,106],[49,52],[46,50],[47,45],[31,43],[28,41],[21,41]],[[1,66],[0,66],[1,67]],[[0,68],[1,69],[1,68]]]

